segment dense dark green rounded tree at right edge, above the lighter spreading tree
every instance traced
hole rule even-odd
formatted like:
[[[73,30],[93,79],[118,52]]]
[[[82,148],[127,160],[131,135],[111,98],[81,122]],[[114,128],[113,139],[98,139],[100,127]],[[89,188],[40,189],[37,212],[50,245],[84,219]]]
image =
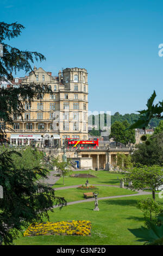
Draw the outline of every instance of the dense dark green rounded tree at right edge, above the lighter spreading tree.
[[[135,145],[131,160],[134,164],[163,166],[163,132],[152,135],[147,141]]]

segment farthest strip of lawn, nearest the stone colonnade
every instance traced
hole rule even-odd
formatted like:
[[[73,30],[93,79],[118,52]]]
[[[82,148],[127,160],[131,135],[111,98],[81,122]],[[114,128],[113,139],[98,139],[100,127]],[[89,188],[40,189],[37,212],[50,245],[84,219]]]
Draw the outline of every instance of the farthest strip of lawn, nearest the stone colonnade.
[[[79,171],[79,172],[73,172],[74,174],[76,173],[87,173],[89,172],[87,170],[85,171]],[[107,172],[106,170],[99,170],[98,172],[95,172],[95,175],[97,178],[75,178],[75,177],[70,177],[67,176],[64,178],[64,184],[63,185],[63,179],[62,177],[55,183],[53,186],[55,187],[63,187],[63,186],[71,186],[71,185],[82,185],[85,184],[86,180],[89,180],[89,183],[91,185],[93,184],[103,184],[103,185],[120,185],[120,179],[124,178],[124,174],[111,174]],[[118,179],[117,179],[118,177]]]

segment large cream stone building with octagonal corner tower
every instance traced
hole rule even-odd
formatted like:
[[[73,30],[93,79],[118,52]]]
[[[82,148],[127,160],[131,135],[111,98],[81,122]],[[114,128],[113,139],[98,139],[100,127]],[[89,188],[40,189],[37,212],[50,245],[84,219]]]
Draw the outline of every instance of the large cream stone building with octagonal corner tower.
[[[42,68],[34,66],[28,76],[15,78],[13,86],[42,83],[51,86],[52,94],[34,99],[32,105],[25,103],[23,121],[17,117],[7,137],[12,144],[36,142],[54,147],[65,138],[87,139],[88,83],[87,71],[80,68],[66,68],[52,76]]]

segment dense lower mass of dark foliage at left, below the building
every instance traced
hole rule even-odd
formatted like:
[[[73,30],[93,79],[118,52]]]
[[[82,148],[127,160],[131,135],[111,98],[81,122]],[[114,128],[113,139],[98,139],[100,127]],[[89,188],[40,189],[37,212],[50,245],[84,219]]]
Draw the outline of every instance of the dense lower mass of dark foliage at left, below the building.
[[[24,157],[31,154],[35,153],[27,149]],[[18,161],[21,161],[18,151],[1,150],[3,199],[0,200],[0,237],[5,245],[12,243],[23,227],[40,222],[43,217],[48,218],[48,211],[53,211],[54,201],[61,207],[66,205],[64,198],[55,197],[53,188],[37,182],[37,175],[45,179],[48,170],[42,169],[40,164],[28,166],[24,159],[22,163],[18,164]]]

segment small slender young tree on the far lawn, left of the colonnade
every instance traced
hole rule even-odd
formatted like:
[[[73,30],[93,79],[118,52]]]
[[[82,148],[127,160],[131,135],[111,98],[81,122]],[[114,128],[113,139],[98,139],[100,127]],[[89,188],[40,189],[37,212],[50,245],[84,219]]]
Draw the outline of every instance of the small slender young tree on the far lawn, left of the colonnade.
[[[56,166],[57,169],[59,170],[59,172],[63,178],[63,185],[65,185],[64,178],[70,172],[70,169],[68,169],[70,167],[70,161],[60,162],[59,158],[57,157],[55,159],[52,159],[52,165]]]

